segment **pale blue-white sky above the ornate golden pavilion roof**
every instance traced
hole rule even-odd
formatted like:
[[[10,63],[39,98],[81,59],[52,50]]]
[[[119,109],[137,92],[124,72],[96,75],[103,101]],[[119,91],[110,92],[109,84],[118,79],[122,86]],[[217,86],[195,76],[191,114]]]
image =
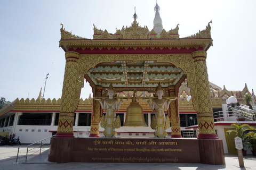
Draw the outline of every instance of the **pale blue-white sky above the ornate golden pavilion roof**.
[[[250,92],[255,85],[256,1],[164,1],[158,0],[163,28],[179,25],[180,38],[205,29],[212,20],[213,46],[207,51],[209,80],[227,90]],[[65,52],[59,48],[60,22],[67,31],[90,38],[93,23],[115,33],[137,21],[153,29],[155,0],[130,1],[4,1],[0,2],[0,97],[13,101],[44,97],[61,98]],[[91,87],[85,84],[83,99]],[[256,92],[255,92],[256,93]]]

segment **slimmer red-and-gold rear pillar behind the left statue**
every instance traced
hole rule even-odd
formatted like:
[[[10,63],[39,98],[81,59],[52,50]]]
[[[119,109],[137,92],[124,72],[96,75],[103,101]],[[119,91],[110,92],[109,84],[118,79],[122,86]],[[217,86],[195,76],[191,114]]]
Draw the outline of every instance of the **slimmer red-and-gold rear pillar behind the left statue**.
[[[96,86],[95,87],[95,94],[93,97],[101,97],[102,94],[102,87]],[[100,137],[99,128],[100,128],[100,121],[103,114],[103,110],[100,105],[99,100],[93,99],[93,108],[92,108],[92,118],[91,118],[91,131],[89,137]]]

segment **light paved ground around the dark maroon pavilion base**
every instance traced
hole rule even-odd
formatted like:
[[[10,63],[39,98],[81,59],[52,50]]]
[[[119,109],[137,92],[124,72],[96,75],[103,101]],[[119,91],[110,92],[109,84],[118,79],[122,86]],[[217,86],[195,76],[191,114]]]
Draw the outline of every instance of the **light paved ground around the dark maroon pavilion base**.
[[[19,149],[18,163],[17,152]],[[256,169],[256,157],[247,155],[244,157],[245,167],[239,167],[238,158],[236,154],[226,154],[225,160],[226,165],[206,165],[206,164],[153,164],[153,163],[66,163],[66,164],[55,164],[47,162],[48,150],[43,149],[42,154],[39,155],[37,152],[35,156],[29,156],[25,163],[27,152],[27,146],[0,146],[0,170],[11,170],[11,169],[29,169],[29,170],[58,170],[58,169]],[[30,151],[31,153],[31,151]]]

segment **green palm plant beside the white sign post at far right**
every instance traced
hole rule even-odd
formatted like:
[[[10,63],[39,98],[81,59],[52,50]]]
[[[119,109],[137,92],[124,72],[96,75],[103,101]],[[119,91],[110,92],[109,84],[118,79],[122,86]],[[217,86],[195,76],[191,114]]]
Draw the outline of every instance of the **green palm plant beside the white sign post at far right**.
[[[250,126],[248,124],[240,124],[240,123],[236,123],[236,124],[231,124],[231,126],[235,126],[235,129],[233,130],[228,130],[226,132],[226,134],[230,134],[230,133],[235,133],[235,135],[239,138],[242,139],[242,143],[243,143],[243,149],[242,149],[242,152],[243,152],[243,156],[246,156],[246,150],[244,150],[244,147],[246,145],[246,141],[245,141],[245,137],[244,137],[244,132],[250,128]],[[246,127],[246,129],[244,129]],[[235,140],[234,140],[235,142]]]

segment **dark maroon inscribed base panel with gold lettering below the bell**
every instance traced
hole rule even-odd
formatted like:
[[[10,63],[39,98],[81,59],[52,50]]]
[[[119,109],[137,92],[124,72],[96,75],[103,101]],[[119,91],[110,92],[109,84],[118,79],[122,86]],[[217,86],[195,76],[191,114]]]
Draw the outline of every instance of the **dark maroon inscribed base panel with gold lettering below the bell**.
[[[72,162],[200,163],[197,139],[75,138]]]

